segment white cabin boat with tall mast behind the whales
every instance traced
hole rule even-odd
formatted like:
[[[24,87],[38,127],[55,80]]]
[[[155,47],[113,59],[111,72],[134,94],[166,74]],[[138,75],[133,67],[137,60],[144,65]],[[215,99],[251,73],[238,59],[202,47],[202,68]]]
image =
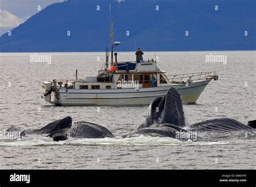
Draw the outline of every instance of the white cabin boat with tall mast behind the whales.
[[[97,76],[85,80],[53,80],[44,82],[42,98],[55,105],[148,105],[153,98],[164,96],[170,87],[176,88],[184,103],[196,103],[211,80],[218,80],[215,71],[166,76],[156,59],[118,62],[113,48],[111,20],[111,66],[109,53]],[[77,72],[76,72],[77,75]]]

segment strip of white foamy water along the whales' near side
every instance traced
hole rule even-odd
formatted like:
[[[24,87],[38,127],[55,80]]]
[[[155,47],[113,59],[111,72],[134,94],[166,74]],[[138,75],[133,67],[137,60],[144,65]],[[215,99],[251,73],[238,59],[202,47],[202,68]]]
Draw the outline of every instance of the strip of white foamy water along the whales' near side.
[[[202,145],[214,145],[214,144],[227,144],[228,141],[217,142],[193,142],[179,141],[173,138],[159,138],[150,136],[139,136],[136,138],[103,138],[103,139],[82,139],[82,138],[70,138],[65,141],[55,142],[51,138],[22,138],[17,140],[5,140],[0,141],[0,146],[52,146],[52,145],[115,145],[115,146],[202,146]]]

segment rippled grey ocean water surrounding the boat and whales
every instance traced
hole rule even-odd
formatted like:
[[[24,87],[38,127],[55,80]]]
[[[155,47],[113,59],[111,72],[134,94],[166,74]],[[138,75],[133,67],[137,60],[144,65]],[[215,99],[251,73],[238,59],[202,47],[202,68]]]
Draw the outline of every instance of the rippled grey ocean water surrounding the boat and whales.
[[[155,56],[144,52],[144,59]],[[53,142],[44,135],[6,139],[0,135],[0,169],[255,169],[256,136],[201,134],[204,141],[120,136],[140,125],[147,106],[53,106],[41,99],[44,81],[93,76],[103,64],[102,53],[45,53],[51,63],[30,62],[34,53],[0,54],[0,132],[10,125],[41,128],[71,116],[108,128],[114,138]],[[42,53],[37,53],[42,54]],[[227,55],[227,62],[206,62],[206,55]],[[188,124],[230,117],[247,123],[256,119],[255,51],[157,52],[167,75],[218,71],[196,104],[185,105]],[[120,52],[118,60],[134,60]],[[1,133],[2,134],[2,133]]]

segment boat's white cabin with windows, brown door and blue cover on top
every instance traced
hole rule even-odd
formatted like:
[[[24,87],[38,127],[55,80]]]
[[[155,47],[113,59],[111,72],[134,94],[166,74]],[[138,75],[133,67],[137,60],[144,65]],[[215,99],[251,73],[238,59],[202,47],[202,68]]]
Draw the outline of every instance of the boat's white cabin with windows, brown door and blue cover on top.
[[[170,85],[169,79],[154,60],[140,62],[117,62],[109,69],[99,70],[98,76],[85,80],[59,82],[59,89],[130,89]]]

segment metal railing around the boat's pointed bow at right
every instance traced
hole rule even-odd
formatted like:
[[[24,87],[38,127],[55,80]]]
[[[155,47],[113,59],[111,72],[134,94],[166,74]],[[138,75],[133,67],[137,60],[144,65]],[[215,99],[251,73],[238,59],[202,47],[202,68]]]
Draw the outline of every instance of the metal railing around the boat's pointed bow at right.
[[[176,74],[176,75],[167,75],[166,76],[171,83],[182,83],[182,82],[199,82],[209,79],[218,80],[217,71],[205,71],[197,73],[188,73],[188,74]]]

